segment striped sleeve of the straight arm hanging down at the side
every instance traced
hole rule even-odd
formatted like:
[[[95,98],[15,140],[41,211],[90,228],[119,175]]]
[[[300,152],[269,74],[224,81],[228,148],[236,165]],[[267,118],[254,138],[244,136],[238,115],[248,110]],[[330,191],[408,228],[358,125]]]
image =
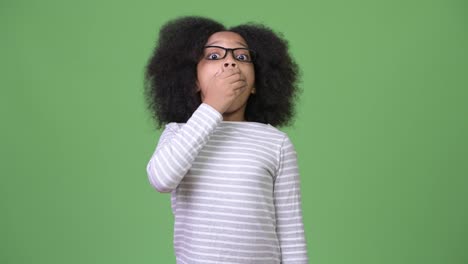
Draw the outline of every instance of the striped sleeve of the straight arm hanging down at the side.
[[[274,185],[276,231],[282,264],[308,263],[299,185],[297,154],[286,136]]]

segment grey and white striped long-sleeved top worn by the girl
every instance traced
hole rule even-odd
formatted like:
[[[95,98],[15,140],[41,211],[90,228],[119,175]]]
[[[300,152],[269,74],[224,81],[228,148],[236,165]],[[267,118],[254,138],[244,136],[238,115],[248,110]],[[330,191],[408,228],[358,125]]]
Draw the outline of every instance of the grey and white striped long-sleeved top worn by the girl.
[[[296,152],[283,132],[201,104],[147,165],[171,193],[177,263],[308,263]]]

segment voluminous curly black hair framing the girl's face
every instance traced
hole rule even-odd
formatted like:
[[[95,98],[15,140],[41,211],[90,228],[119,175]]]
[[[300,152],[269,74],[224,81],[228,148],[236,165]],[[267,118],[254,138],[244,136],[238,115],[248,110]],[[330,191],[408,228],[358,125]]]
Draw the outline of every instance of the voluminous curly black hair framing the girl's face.
[[[245,110],[247,121],[289,125],[299,92],[299,68],[282,35],[262,24],[226,28],[209,18],[188,16],[169,21],[145,69],[145,100],[157,127],[185,123],[202,103],[197,92],[197,64],[208,38],[220,31],[241,35],[255,51],[255,94]]]

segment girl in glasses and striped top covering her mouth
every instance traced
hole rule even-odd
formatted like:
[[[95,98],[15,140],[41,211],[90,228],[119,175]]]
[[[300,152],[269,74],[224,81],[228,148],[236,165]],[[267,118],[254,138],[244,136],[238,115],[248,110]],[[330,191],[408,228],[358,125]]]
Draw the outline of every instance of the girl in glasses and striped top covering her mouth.
[[[308,263],[293,116],[298,69],[269,28],[164,25],[146,68],[159,127],[147,165],[171,193],[177,263]]]

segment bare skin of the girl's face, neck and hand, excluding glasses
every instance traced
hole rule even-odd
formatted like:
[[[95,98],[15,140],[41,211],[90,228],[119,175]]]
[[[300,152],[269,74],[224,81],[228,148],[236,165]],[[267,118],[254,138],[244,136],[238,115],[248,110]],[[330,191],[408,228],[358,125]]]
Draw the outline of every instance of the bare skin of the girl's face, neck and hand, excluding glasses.
[[[221,31],[208,38],[206,45],[248,48],[237,33]],[[232,52],[221,60],[202,58],[197,64],[197,87],[202,102],[223,115],[224,121],[245,121],[247,99],[255,93],[253,63],[233,58]]]

